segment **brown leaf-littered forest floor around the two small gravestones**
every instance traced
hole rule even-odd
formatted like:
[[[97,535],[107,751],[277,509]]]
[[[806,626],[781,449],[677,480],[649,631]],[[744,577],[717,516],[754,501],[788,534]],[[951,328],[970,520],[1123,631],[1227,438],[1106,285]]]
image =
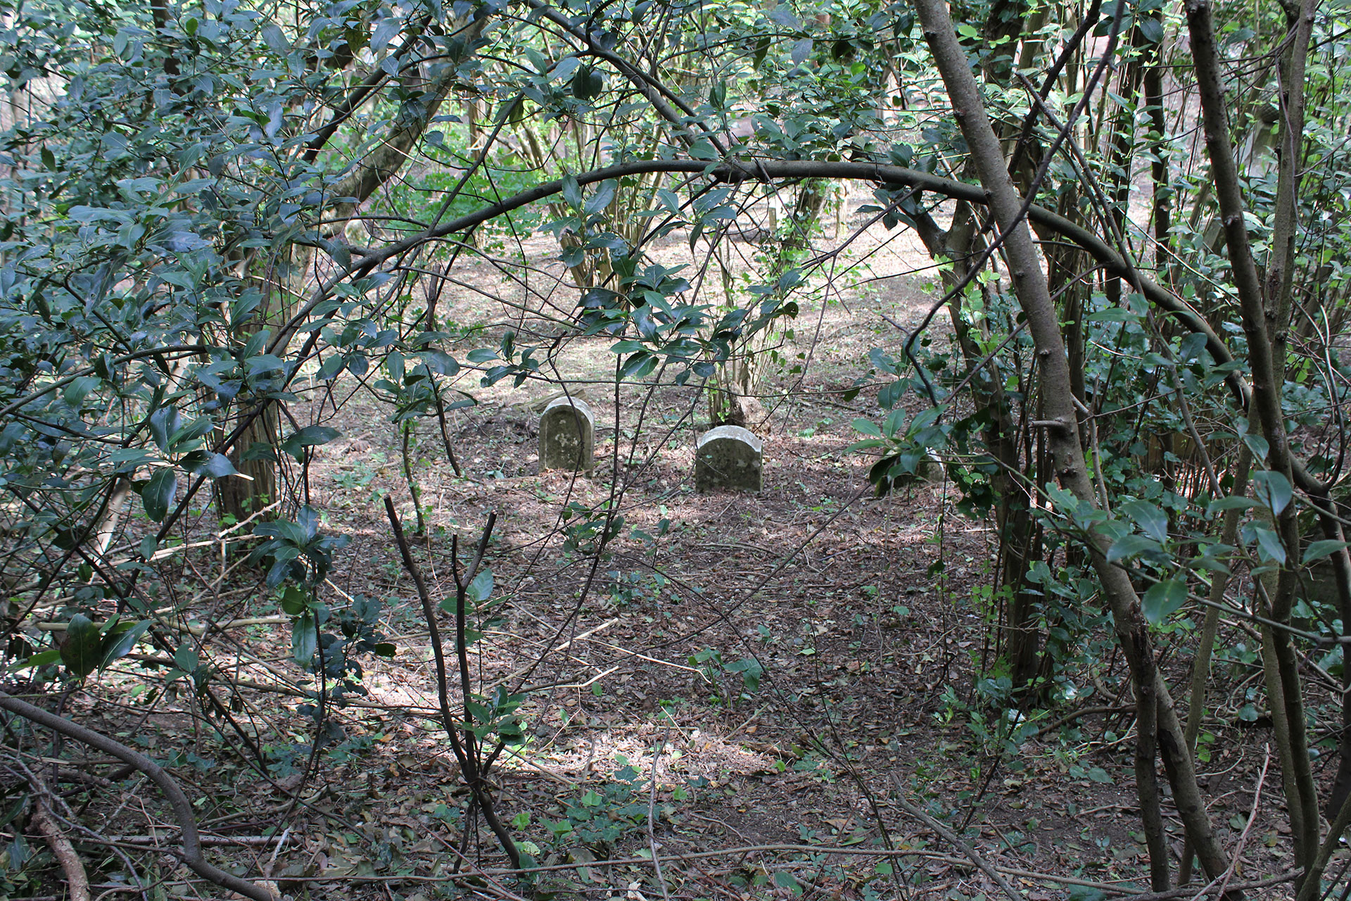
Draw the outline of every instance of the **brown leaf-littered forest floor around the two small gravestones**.
[[[873,249],[890,236],[875,227],[861,244]],[[682,247],[688,259],[688,244],[678,240],[662,253],[677,259]],[[546,259],[547,246],[538,253]],[[892,274],[925,263],[916,247],[893,244],[871,266]],[[470,266],[463,277],[504,290],[488,266]],[[504,619],[474,646],[473,678],[476,686],[515,685],[517,677],[539,686],[521,708],[527,743],[504,754],[494,773],[499,809],[517,840],[542,866],[559,865],[536,875],[539,890],[648,900],[998,896],[962,851],[894,802],[897,788],[950,828],[965,827],[966,840],[1032,901],[1147,886],[1121,666],[1102,663],[1106,694],[1085,706],[1106,711],[1078,728],[1055,725],[1069,711],[1055,712],[1047,731],[1002,761],[997,744],[973,735],[973,711],[982,713],[974,673],[992,651],[982,644],[990,612],[973,601],[973,589],[988,581],[993,538],[985,524],[955,513],[959,497],[948,482],[874,498],[870,461],[846,448],[858,439],[850,427],[855,416],[880,417],[875,390],[865,388],[851,401],[840,393],[866,380],[871,347],[898,351],[904,336],[882,315],[913,327],[932,294],[923,277],[848,282],[846,276],[838,290],[804,297],[796,338],[784,351],[800,362],[796,354],[811,349],[811,366],[800,384],[777,374],[767,392],[761,494],[696,494],[693,443],[707,424],[696,390],[669,377],[630,382],[616,407],[607,385],[613,354],[604,339],[573,340],[558,357],[571,390],[597,415],[590,478],[538,471],[535,407],[557,384],[489,389],[478,385],[478,373],[461,378],[457,386],[478,401],[450,421],[463,478],[444,459],[435,420],[419,424],[415,471],[428,530],[415,539],[415,555],[434,600],[454,596],[451,534],[473,547],[489,511],[499,516],[485,565],[496,596],[507,598]],[[471,321],[481,303],[457,294],[446,315]],[[557,293],[553,303],[570,307]],[[939,342],[947,340],[943,326],[936,323]],[[462,358],[471,346],[494,342],[490,332],[447,350]],[[919,409],[915,398],[907,403]],[[297,419],[304,412],[293,408]],[[466,796],[435,716],[427,627],[384,516],[381,498],[390,494],[412,530],[400,436],[388,407],[350,377],[332,398],[313,394],[308,412],[311,421],[342,431],[309,470],[311,500],[326,511],[326,528],[350,539],[327,600],[385,598],[384,628],[397,655],[363,662],[369,697],[332,711],[342,736],[308,777],[313,720],[299,709],[309,701],[285,693],[303,674],[289,661],[284,624],[243,632],[251,658],[227,642],[211,644],[231,675],[274,689],[240,689],[232,711],[266,755],[272,783],[246,763],[251,752],[242,740],[224,746],[189,725],[177,713],[192,709],[185,697],[150,701],[113,690],[124,706],[103,706],[105,728],[130,740],[145,716],[177,725],[184,744],[151,752],[189,755],[174,771],[204,798],[205,833],[273,836],[209,852],[249,860],[286,894],[454,897],[457,883],[443,877],[461,869],[457,855],[465,855],[465,869],[501,869],[505,859],[486,829],[465,840]],[[563,548],[559,525],[567,523],[559,515],[573,501],[603,504],[616,474],[624,525],[593,573],[590,557]],[[219,575],[220,561],[189,559],[184,590],[200,592]],[[219,590],[218,621],[278,612],[242,567]],[[440,628],[453,634],[450,617]],[[1185,632],[1177,640],[1189,647]],[[1188,655],[1181,654],[1182,666]],[[1169,655],[1175,669],[1178,657]],[[755,690],[725,669],[747,659],[763,666]],[[230,704],[223,689],[218,696]],[[1228,847],[1244,832],[1269,761],[1267,731],[1233,725],[1242,702],[1242,692],[1212,700],[1206,728],[1224,750],[1202,766],[1212,819]],[[1001,713],[985,716],[997,721]],[[1235,881],[1288,867],[1289,839],[1270,816],[1278,781],[1271,759]],[[141,796],[136,804],[158,804],[147,789]],[[109,804],[109,831],[135,820],[112,809],[115,797],[100,800]],[[559,825],[569,809],[571,833]],[[127,828],[145,828],[135,821],[141,825]],[[1179,851],[1179,823],[1170,816],[1167,824]],[[605,827],[608,836],[586,838]],[[878,856],[884,848],[894,856]],[[725,852],[692,856],[705,851]],[[605,859],[627,862],[594,863]],[[593,865],[562,866],[578,862]],[[458,885],[484,897],[504,889],[530,894],[504,875]],[[208,889],[201,886],[200,897],[209,897]]]

